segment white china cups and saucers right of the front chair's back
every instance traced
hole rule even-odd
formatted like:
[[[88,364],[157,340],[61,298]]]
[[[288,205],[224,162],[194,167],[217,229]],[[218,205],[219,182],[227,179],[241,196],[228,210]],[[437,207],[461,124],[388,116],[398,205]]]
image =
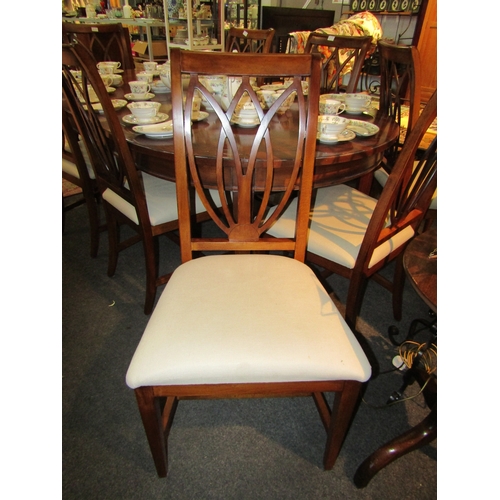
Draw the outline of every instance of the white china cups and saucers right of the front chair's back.
[[[371,107],[368,94],[323,94],[319,100],[318,141],[336,144],[351,141],[356,136],[371,137],[379,128],[377,125],[339,116],[341,113],[361,115]]]

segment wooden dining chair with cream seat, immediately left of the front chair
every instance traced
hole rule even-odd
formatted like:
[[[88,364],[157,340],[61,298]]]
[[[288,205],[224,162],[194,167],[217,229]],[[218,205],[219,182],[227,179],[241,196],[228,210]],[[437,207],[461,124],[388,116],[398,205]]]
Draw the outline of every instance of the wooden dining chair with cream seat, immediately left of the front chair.
[[[142,241],[146,260],[145,314],[154,305],[156,289],[170,274],[158,275],[158,237],[169,236],[178,228],[175,183],[159,179],[136,167],[122,125],[106,92],[92,54],[81,44],[62,46],[62,83],[64,103],[71,112],[96,174],[106,213],[109,260],[108,275],[115,273],[118,254]],[[82,72],[77,80],[71,70]],[[92,86],[103,108],[93,111],[88,86]],[[108,132],[103,122],[106,122]],[[198,220],[206,218],[200,202]],[[120,226],[134,230],[131,237],[120,239]],[[177,239],[176,235],[174,235]]]

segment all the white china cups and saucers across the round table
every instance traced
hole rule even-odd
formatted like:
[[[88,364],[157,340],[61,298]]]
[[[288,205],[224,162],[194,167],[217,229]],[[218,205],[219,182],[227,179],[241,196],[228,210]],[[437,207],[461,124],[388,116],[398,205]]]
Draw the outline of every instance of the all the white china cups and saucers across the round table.
[[[136,80],[129,82],[130,93],[125,94],[127,101],[113,99],[115,109],[127,106],[131,114],[122,118],[127,125],[133,125],[132,130],[144,134],[149,138],[165,139],[173,136],[172,120],[168,120],[166,113],[160,112],[161,103],[153,102],[155,93],[170,92],[170,64],[158,64],[154,61],[143,63],[144,71],[136,73]],[[99,73],[105,82],[107,89],[119,86],[123,83],[120,73],[120,63],[105,61],[97,64]],[[159,77],[156,78],[156,77]],[[205,77],[202,83],[212,93],[213,97],[223,109],[227,109],[229,103],[236,93],[241,79],[225,75]],[[307,91],[307,82],[304,82],[304,91]],[[286,84],[271,84],[255,87],[259,104],[262,109],[269,109],[281,96]],[[108,90],[109,92],[110,90]],[[278,114],[285,113],[292,105],[295,93],[290,94],[280,105]],[[192,121],[201,121],[209,115],[201,110],[201,105],[206,110],[211,105],[206,99],[195,96],[192,103]],[[317,139],[323,144],[336,144],[350,141],[356,136],[371,137],[379,128],[369,122],[340,116],[342,113],[348,115],[361,115],[368,113],[371,108],[371,97],[364,93],[351,94],[323,94],[320,96],[318,132]],[[240,127],[257,127],[260,119],[254,103],[248,95],[244,95],[236,107],[231,123]]]

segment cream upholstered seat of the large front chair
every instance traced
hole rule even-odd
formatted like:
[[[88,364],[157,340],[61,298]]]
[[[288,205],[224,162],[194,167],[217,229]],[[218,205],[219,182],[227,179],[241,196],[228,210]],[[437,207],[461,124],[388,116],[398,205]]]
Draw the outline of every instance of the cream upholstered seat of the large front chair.
[[[366,356],[310,268],[278,255],[211,255],[173,273],[127,385],[369,376]]]

